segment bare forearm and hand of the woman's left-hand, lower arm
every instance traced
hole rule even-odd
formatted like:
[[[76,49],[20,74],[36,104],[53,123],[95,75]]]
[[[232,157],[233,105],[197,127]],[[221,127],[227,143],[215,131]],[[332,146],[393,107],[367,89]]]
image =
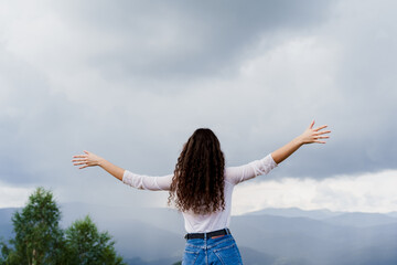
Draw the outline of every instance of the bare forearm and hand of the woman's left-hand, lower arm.
[[[112,174],[115,178],[122,181],[122,176],[125,172],[122,168],[112,165],[111,162],[107,161],[101,157],[96,156],[93,152],[84,151],[84,153],[85,155],[73,156],[74,159],[72,160],[72,162],[74,166],[81,166],[79,169],[99,166],[103,169],[105,169],[108,173]]]

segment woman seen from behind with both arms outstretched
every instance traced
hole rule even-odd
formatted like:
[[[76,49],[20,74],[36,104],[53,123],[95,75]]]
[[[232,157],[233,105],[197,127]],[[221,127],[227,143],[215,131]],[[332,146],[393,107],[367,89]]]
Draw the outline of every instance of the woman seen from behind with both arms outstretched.
[[[236,184],[267,174],[302,145],[329,138],[326,126],[304,132],[261,160],[242,167],[225,168],[224,155],[214,132],[197,129],[183,146],[173,174],[147,177],[124,170],[92,152],[74,156],[79,169],[99,166],[124,183],[143,190],[170,192],[169,204],[182,212],[187,234],[182,264],[243,264],[238,247],[228,230],[232,192]]]

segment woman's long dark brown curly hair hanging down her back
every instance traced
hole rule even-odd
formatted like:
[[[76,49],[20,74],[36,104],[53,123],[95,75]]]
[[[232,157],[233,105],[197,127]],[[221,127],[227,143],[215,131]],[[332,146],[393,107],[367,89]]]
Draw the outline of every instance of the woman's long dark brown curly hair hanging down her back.
[[[211,129],[200,128],[189,138],[178,158],[169,204],[181,212],[207,214],[225,210],[225,158]]]

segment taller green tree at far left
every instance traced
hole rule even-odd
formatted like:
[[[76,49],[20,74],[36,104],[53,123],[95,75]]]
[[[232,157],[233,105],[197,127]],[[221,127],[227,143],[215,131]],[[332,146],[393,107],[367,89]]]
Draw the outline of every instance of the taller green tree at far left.
[[[10,264],[62,264],[63,231],[61,211],[51,191],[37,188],[21,212],[12,216],[14,250],[8,250]]]

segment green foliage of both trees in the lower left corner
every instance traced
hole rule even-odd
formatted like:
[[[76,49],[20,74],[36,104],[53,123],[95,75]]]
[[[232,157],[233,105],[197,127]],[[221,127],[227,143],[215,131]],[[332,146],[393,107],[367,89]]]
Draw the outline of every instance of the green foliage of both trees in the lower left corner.
[[[0,241],[0,265],[121,265],[111,236],[86,216],[66,231],[51,191],[37,188],[12,216],[14,237]]]

